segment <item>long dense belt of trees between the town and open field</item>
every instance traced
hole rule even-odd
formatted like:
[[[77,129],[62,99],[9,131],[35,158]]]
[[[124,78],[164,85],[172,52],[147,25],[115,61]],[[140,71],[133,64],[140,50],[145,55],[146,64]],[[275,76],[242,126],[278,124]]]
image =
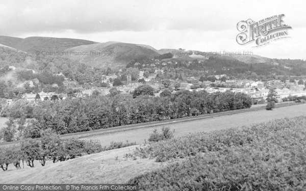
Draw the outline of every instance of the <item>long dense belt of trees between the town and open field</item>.
[[[6,114],[8,117],[25,118],[27,115],[26,117],[34,118],[27,123],[20,123],[24,129],[23,131],[19,129],[19,133],[22,132],[19,137],[22,139],[38,138],[41,130],[45,129],[53,129],[58,134],[65,134],[251,106],[249,96],[230,91],[212,94],[206,91],[178,91],[174,94],[165,91],[160,97],[152,96],[153,91],[151,87],[142,85],[134,91],[133,95],[122,95],[118,91],[113,91],[108,96],[67,98],[37,104],[17,102],[16,106],[14,103],[10,105],[10,110]],[[4,128],[7,132],[14,133],[13,125],[7,128]]]

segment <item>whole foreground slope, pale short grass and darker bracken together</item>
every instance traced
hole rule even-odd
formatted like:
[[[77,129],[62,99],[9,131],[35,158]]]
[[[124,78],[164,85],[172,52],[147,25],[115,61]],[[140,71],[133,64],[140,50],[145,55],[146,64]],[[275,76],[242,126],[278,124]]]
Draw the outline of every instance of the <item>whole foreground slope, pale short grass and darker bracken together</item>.
[[[48,161],[45,167],[38,161],[35,168],[15,170],[10,165],[0,172],[0,182],[128,182],[138,183],[140,190],[304,190],[305,123],[304,116],[285,118],[188,134],[138,149]]]

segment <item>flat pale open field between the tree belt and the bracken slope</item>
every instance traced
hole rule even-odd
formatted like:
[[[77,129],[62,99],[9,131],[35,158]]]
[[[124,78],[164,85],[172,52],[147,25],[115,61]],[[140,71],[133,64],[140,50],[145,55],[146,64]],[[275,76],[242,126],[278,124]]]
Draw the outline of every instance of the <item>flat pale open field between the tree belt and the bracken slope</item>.
[[[174,136],[182,136],[189,133],[212,131],[218,129],[226,129],[230,127],[250,125],[254,123],[267,122],[272,119],[291,118],[304,115],[306,116],[306,104],[299,104],[293,106],[279,107],[273,111],[260,110],[256,112],[244,112],[234,115],[219,116],[215,118],[200,119],[195,121],[187,121],[181,123],[168,124],[166,126],[175,129]],[[83,140],[96,140],[102,145],[107,145],[111,141],[130,141],[137,144],[143,144],[144,140],[149,138],[150,133],[155,128],[161,127],[147,127],[138,128],[135,130],[127,130],[121,132],[112,132],[102,135],[93,135],[91,137],[83,138]]]

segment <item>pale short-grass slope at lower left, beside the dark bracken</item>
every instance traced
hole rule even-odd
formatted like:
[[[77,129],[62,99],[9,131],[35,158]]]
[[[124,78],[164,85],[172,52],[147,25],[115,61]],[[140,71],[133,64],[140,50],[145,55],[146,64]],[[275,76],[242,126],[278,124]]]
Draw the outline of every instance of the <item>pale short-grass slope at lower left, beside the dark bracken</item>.
[[[25,166],[24,169],[16,170],[10,165],[8,171],[0,172],[0,182],[125,183],[132,177],[161,167],[161,163],[155,162],[155,159],[126,160],[124,155],[133,152],[135,147],[124,147],[57,163],[48,161],[45,167],[39,161],[34,162],[35,168]]]

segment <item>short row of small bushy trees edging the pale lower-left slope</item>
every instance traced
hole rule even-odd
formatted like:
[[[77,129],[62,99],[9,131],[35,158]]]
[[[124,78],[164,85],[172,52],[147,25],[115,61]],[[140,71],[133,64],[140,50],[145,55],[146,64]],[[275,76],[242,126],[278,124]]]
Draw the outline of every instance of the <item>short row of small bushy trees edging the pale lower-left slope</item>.
[[[54,163],[73,159],[77,156],[103,151],[99,143],[84,142],[76,139],[60,140],[59,135],[47,129],[42,131],[40,139],[28,139],[20,145],[0,147],[0,168],[8,169],[12,163],[17,169],[24,167],[24,162],[29,167],[34,167],[34,161],[39,161],[42,166],[47,160]]]

